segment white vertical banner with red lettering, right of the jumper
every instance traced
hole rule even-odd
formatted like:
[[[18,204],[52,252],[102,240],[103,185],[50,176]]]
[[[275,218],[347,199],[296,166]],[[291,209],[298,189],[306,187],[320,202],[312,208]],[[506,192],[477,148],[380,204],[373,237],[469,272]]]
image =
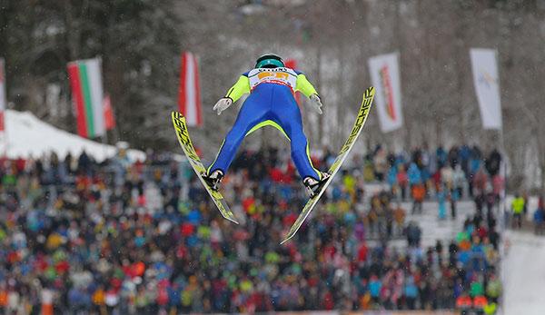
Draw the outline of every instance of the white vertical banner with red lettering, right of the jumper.
[[[382,133],[403,125],[401,113],[401,82],[399,54],[381,54],[369,58],[372,85],[376,89],[375,103],[379,111]]]

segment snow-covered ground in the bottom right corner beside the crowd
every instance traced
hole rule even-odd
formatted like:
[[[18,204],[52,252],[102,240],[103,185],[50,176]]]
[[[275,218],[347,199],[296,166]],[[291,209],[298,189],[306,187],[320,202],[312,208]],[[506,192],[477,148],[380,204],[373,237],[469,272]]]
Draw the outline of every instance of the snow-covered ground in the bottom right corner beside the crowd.
[[[504,240],[503,314],[545,314],[545,237],[507,231]]]

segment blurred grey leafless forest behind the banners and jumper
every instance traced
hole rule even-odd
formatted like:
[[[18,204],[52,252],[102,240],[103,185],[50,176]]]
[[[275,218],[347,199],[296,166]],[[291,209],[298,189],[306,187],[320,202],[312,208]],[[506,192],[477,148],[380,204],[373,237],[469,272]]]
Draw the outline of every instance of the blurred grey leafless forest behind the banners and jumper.
[[[349,132],[371,84],[368,58],[399,52],[405,125],[383,134],[372,113],[362,149],[377,143],[499,147],[510,160],[512,187],[545,185],[545,172],[536,172],[545,170],[545,0],[0,3],[9,107],[65,130],[75,130],[66,64],[100,56],[117,123],[110,142],[177,150],[168,113],[177,108],[180,53],[186,50],[199,57],[203,99],[203,127],[192,133],[212,157],[237,112],[218,118],[213,103],[259,54],[272,51],[295,58],[322,95],[322,116],[302,107],[312,148],[319,149]],[[502,134],[481,128],[471,47],[498,51]],[[248,145],[276,138],[261,132]]]

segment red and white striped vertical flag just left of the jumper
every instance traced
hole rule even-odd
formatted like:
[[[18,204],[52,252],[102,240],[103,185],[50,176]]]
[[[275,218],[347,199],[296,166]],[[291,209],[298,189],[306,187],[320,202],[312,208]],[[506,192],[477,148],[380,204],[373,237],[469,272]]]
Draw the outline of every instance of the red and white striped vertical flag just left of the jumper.
[[[188,52],[182,54],[178,106],[180,113],[185,116],[187,125],[200,126],[203,123],[197,58]]]

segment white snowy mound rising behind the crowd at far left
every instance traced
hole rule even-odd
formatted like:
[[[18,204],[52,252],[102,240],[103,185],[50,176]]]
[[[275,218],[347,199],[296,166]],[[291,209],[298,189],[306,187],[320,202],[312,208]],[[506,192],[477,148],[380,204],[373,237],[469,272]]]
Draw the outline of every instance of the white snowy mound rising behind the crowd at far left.
[[[113,145],[96,143],[74,133],[65,132],[42,122],[29,112],[5,111],[5,129],[7,157],[10,159],[41,158],[53,152],[59,158],[64,158],[67,153],[77,156],[85,151],[97,162],[102,162],[117,152]],[[4,152],[5,141],[2,140],[0,155]],[[145,159],[142,151],[128,150],[127,154],[132,161]]]

